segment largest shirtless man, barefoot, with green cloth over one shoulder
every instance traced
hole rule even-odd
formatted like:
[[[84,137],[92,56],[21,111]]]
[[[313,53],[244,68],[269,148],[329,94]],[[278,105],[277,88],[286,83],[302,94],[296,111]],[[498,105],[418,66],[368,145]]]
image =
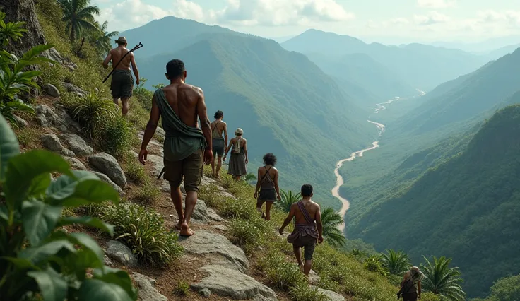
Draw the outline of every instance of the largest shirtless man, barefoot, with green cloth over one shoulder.
[[[159,118],[162,117],[162,129],[166,132],[164,178],[170,182],[173,205],[179,216],[179,223],[175,228],[180,230],[181,236],[191,236],[194,232],[189,228],[189,220],[197,203],[203,164],[209,165],[213,160],[211,127],[202,89],[184,83],[187,75],[184,63],[173,59],[166,65],[166,72],[170,85],[155,90],[153,94],[150,120],[144,131],[139,161],[146,164],[146,147],[155,134]],[[202,129],[197,126],[197,117]],[[184,212],[180,190],[183,176],[186,189]]]

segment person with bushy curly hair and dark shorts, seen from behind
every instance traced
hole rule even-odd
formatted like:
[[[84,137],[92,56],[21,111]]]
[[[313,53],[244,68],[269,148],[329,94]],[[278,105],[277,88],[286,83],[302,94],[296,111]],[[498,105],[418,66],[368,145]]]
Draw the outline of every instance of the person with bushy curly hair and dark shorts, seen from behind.
[[[256,210],[265,220],[271,220],[271,206],[276,199],[280,200],[280,188],[278,187],[278,170],[276,167],[276,156],[273,153],[264,155],[264,166],[259,167],[254,190]],[[260,192],[260,193],[259,193]],[[262,205],[266,203],[266,213],[262,211]]]

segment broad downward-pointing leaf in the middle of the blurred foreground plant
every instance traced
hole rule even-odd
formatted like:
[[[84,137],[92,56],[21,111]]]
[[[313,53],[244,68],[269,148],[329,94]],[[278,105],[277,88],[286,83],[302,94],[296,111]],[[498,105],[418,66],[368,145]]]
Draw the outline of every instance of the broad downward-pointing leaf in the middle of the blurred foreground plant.
[[[61,207],[50,206],[42,201],[24,201],[22,224],[30,244],[40,244],[51,234],[61,216]]]

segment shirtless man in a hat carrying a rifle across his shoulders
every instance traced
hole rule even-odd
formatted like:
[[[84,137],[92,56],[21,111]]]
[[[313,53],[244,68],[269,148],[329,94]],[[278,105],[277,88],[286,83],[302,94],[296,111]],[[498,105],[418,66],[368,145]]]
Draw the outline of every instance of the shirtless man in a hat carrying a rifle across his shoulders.
[[[110,50],[108,52],[105,61],[103,61],[103,67],[105,69],[108,68],[108,63],[112,61],[112,66],[116,66],[121,59],[123,59],[124,54],[129,52],[129,49],[126,49],[126,37],[119,37],[116,40],[117,47]],[[131,52],[126,57],[124,57],[123,61],[114,69],[114,73],[112,73],[112,82],[110,83],[110,90],[112,90],[112,98],[114,99],[114,103],[119,106],[119,98],[121,98],[121,102],[123,105],[121,114],[126,116],[128,114],[128,102],[132,96],[132,88],[134,88],[134,78],[132,78],[132,74],[130,73],[130,64],[132,65],[132,70],[134,70],[134,75],[136,76],[136,85],[139,85],[139,71],[137,70],[136,58],[134,57],[134,53]]]

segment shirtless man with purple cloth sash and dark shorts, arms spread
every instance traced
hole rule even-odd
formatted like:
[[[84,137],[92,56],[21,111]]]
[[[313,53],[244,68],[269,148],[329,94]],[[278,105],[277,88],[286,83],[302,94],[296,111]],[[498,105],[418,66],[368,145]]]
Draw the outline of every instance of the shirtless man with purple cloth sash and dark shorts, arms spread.
[[[289,235],[287,241],[293,244],[296,261],[300,268],[303,268],[305,276],[309,276],[312,268],[312,254],[317,242],[323,242],[323,225],[321,224],[321,211],[319,205],[312,201],[312,186],[305,184],[302,186],[302,200],[290,206],[290,212],[283,221],[280,228],[280,235],[283,229],[296,218],[295,230]],[[305,264],[302,262],[302,248],[304,248]]]

